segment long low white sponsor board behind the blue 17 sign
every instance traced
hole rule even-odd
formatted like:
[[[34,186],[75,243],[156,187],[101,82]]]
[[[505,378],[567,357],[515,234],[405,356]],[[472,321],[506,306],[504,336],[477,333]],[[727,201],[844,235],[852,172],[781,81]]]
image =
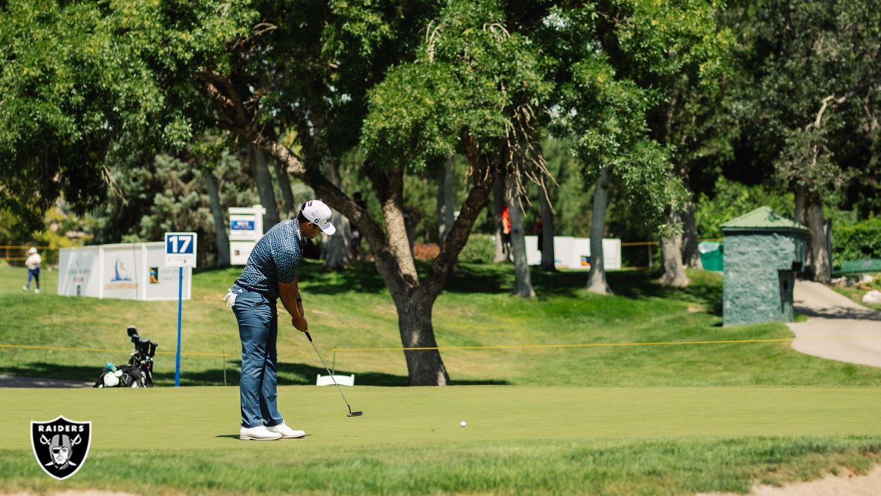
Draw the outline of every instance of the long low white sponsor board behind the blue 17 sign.
[[[190,298],[191,268],[183,270]],[[178,268],[165,267],[165,243],[101,244],[62,248],[58,294],[68,297],[176,300]]]

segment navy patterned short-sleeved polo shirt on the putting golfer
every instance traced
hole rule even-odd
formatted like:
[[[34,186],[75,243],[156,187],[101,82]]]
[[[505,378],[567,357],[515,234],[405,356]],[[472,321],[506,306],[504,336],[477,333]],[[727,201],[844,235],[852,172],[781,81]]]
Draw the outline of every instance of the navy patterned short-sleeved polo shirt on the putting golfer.
[[[296,220],[278,222],[254,245],[248,264],[235,280],[241,288],[278,298],[278,283],[292,282],[303,258],[306,237]]]

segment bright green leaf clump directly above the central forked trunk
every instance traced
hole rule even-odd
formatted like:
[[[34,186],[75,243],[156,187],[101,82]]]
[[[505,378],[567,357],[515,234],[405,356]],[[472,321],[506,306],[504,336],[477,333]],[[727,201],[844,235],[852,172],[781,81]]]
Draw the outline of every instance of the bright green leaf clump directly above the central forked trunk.
[[[426,26],[416,60],[390,69],[368,94],[368,158],[424,169],[454,153],[463,132],[485,153],[500,152],[515,114],[540,109],[551,88],[537,47],[506,24],[494,0],[447,4]]]

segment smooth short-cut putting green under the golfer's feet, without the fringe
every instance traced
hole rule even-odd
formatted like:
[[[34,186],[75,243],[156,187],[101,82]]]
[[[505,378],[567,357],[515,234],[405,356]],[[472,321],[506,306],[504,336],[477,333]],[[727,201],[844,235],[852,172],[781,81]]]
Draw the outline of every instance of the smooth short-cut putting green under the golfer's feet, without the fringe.
[[[93,450],[297,449],[492,440],[651,440],[881,435],[875,388],[280,387],[279,406],[305,440],[235,440],[237,387],[7,389],[3,447],[30,449],[29,426],[59,415],[91,421]],[[465,420],[468,425],[460,427]],[[253,446],[270,445],[270,446]]]

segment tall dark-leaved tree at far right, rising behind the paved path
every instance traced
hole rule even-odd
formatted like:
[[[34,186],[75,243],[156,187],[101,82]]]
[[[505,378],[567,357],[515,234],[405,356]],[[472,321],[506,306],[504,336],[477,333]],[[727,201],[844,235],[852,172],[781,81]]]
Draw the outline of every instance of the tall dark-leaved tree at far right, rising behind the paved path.
[[[848,160],[853,142],[877,126],[881,90],[881,4],[742,2],[729,15],[746,71],[744,130],[756,160],[773,163],[795,193],[796,220],[809,225],[815,278],[831,280],[824,206],[868,161]],[[864,157],[865,154],[862,154]]]

